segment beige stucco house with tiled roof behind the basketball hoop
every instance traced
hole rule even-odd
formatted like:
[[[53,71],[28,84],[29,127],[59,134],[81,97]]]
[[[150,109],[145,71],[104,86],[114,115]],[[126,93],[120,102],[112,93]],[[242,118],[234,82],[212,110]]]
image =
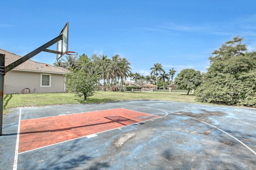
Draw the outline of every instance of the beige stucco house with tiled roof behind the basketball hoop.
[[[5,66],[21,56],[0,49],[5,55]],[[66,68],[27,60],[4,76],[4,94],[66,92]]]

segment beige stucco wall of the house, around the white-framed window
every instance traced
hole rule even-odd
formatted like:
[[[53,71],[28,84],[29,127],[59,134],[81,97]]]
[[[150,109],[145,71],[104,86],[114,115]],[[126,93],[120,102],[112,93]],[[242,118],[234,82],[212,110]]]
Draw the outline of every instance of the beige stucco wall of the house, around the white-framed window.
[[[40,72],[10,70],[4,76],[4,94],[20,94],[24,88],[29,88],[31,93],[65,92],[63,74],[45,74],[51,75],[50,87],[41,87]]]

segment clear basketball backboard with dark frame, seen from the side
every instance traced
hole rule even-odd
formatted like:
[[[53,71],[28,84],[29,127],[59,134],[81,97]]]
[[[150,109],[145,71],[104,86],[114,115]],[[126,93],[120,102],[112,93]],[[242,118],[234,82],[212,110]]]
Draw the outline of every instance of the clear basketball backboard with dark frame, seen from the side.
[[[60,32],[60,35],[62,35],[62,39],[57,42],[57,51],[61,52],[61,54],[57,54],[57,60],[68,52],[68,22]]]

